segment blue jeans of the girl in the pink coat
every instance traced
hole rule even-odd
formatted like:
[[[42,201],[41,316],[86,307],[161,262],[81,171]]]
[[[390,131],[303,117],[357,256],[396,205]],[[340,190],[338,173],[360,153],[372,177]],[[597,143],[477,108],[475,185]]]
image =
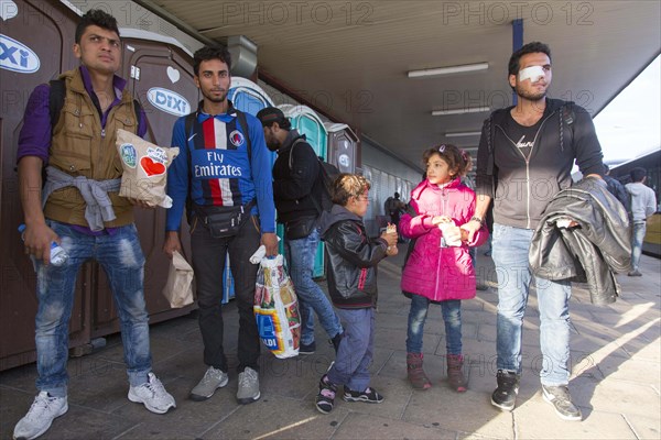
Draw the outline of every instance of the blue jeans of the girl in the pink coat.
[[[411,294],[409,328],[407,329],[407,352],[422,353],[422,337],[430,299]],[[462,301],[449,299],[441,301],[443,321],[445,322],[445,350],[447,354],[462,354]]]

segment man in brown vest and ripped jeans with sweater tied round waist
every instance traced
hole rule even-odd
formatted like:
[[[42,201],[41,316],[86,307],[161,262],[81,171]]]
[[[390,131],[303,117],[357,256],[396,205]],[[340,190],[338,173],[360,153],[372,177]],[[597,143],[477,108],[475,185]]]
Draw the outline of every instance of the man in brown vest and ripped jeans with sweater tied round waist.
[[[133,223],[133,205],[138,202],[118,195],[122,166],[115,146],[117,129],[144,135],[147,127],[144,114],[136,114],[126,80],[115,75],[121,59],[115,18],[100,10],[83,15],[73,50],[80,66],[59,77],[65,99],[57,122],[50,114],[51,87],[37,86],[30,96],[19,138],[23,239],[37,277],[40,393],[17,424],[14,438],[41,436],[68,409],[68,322],[76,275],[88,258],[104,267],[115,295],[129,400],[156,414],[175,407],[174,398],[151,371],[144,256]],[[68,254],[61,265],[51,264],[53,242]]]

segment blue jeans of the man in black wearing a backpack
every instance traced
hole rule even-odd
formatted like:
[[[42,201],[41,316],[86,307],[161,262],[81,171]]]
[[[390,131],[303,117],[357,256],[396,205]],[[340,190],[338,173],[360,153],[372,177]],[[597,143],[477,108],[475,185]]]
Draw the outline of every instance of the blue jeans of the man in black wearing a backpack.
[[[299,297],[301,311],[301,344],[314,342],[314,312],[329,338],[342,333],[339,319],[333,311],[330,301],[321,287],[312,279],[314,271],[314,256],[319,243],[319,230],[313,229],[312,233],[303,239],[284,240],[284,257],[292,283]]]

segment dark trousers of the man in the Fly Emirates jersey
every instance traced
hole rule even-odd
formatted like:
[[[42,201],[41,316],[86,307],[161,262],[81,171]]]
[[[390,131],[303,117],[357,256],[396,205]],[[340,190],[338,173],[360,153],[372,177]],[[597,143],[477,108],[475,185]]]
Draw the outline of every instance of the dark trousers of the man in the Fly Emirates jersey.
[[[229,267],[235,279],[239,309],[238,372],[247,366],[259,371],[260,339],[252,311],[254,285],[259,265],[249,262],[260,245],[257,217],[251,217],[235,237],[214,239],[199,219],[191,231],[193,271],[197,288],[199,331],[204,343],[204,363],[227,373],[227,358],[223,345],[223,268],[229,254]]]

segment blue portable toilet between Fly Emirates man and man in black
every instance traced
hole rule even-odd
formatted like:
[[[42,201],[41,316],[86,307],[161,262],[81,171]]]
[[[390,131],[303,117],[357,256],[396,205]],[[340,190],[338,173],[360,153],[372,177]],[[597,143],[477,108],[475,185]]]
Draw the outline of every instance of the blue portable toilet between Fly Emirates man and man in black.
[[[273,107],[273,101],[261,87],[250,79],[238,76],[231,77],[231,87],[227,92],[227,99],[231,101],[235,109],[252,116],[257,116],[257,112],[266,107]],[[273,153],[271,164],[273,164],[274,161],[275,154]],[[229,254],[225,258],[223,280],[225,287],[225,290],[223,292],[223,304],[227,304],[236,296],[235,282],[229,268]]]

